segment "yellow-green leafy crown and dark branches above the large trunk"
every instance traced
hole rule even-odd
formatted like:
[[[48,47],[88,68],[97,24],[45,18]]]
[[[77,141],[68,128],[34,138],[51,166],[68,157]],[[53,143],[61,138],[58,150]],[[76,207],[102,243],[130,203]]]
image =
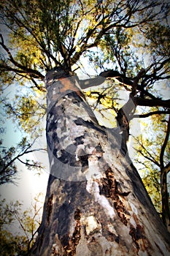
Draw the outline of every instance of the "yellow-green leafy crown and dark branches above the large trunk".
[[[100,3],[96,1],[88,3],[86,1],[65,1],[64,3],[61,1],[57,3],[56,1],[9,1],[8,4],[2,3],[1,20],[9,29],[8,39],[1,36],[2,81],[7,85],[17,81],[18,86],[23,86],[26,81],[29,81],[27,86],[31,90],[43,93],[45,88],[41,80],[44,80],[45,72],[50,68],[59,66],[75,71],[82,66],[82,57],[90,56],[90,62],[93,61],[95,66],[97,64],[98,74],[104,78],[112,78],[110,88],[115,84],[116,79],[117,89],[123,86],[125,90],[131,92],[131,99],[136,106],[149,108],[156,106],[157,114],[168,114],[169,99],[160,99],[158,86],[156,86],[158,81],[167,81],[169,78],[169,41],[165,40],[169,26],[166,23],[160,23],[160,20],[168,17],[168,13],[168,4],[160,1],[136,1],[135,3],[134,1],[102,1]],[[156,37],[153,36],[155,25],[158,28],[156,41]],[[157,42],[161,43],[161,47]],[[15,45],[17,50],[12,50],[12,45]],[[139,55],[139,49],[143,55]],[[98,56],[101,56],[101,59],[98,59]],[[106,71],[108,64],[110,70]],[[140,73],[142,68],[144,70]],[[81,81],[80,85],[82,89],[90,86]],[[97,80],[96,85],[98,85]],[[107,91],[104,94],[97,92],[96,103],[101,103],[103,99],[108,100],[112,95],[111,92],[109,94]],[[116,109],[112,104],[113,98],[110,97],[110,99],[109,104],[117,110],[117,121],[121,127],[125,117],[122,106]],[[30,113],[28,117],[31,116]],[[128,116],[127,127],[124,127],[123,131],[127,136],[128,122],[131,118],[132,116]],[[22,124],[24,120],[22,119]],[[167,138],[169,126],[166,130]],[[127,137],[125,142],[126,140]],[[163,144],[163,148],[166,144]],[[166,151],[163,149],[161,152],[162,162]],[[161,177],[166,177],[164,164],[162,166]],[[166,195],[166,201],[163,200],[164,206],[167,206],[166,179],[161,178],[161,182],[161,187],[166,192],[163,192]],[[166,217],[163,219],[166,225],[169,225],[167,212],[166,209]]]

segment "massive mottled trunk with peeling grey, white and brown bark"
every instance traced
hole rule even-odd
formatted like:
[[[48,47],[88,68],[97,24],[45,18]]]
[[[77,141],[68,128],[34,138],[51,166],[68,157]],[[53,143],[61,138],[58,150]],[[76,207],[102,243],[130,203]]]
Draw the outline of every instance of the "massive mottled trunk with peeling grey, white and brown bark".
[[[70,75],[46,76],[51,173],[31,255],[169,255],[169,233],[118,129],[98,125]]]

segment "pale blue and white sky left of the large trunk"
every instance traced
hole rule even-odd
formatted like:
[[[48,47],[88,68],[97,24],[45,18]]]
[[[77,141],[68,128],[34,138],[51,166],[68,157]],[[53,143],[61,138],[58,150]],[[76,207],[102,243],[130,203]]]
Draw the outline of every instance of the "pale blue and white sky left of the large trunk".
[[[16,85],[11,85],[4,91],[4,94],[9,97],[9,100],[12,100],[12,98],[15,97],[16,89]],[[5,128],[5,132],[0,134],[0,139],[3,140],[3,146],[7,148],[15,146],[18,142],[20,142],[21,138],[23,138],[24,133],[20,132],[17,124],[4,116],[2,109],[0,118],[4,119],[3,126]],[[26,157],[28,158],[28,156]],[[39,194],[39,192],[42,192],[45,195],[49,176],[47,156],[45,158],[44,155],[41,156],[39,152],[35,152],[34,154],[30,154],[29,157],[37,161],[45,159],[45,164],[47,166],[41,170],[41,175],[39,175],[35,170],[28,170],[25,165],[21,164],[19,161],[16,161],[18,166],[18,174],[15,184],[8,183],[0,186],[1,199],[5,198],[7,202],[10,200],[20,200],[23,202],[23,208],[31,206],[31,201],[36,195]]]

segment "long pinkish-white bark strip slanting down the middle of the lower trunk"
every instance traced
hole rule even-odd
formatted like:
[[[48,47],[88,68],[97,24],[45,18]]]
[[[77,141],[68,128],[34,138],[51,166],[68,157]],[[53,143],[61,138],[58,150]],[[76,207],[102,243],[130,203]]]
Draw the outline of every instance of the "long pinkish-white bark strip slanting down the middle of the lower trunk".
[[[107,198],[104,197],[104,195],[99,194],[98,183],[96,181],[89,180],[87,182],[86,189],[90,194],[92,194],[95,197],[95,201],[99,203],[102,206],[102,208],[104,208],[105,213],[109,215],[110,218],[113,219],[116,215],[114,208],[110,205],[109,200],[107,200]]]

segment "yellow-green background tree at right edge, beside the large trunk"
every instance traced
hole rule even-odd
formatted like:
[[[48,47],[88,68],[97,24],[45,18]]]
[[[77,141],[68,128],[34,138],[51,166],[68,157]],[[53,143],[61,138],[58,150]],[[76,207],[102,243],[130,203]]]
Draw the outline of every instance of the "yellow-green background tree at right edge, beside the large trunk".
[[[154,117],[151,116],[152,120],[154,121]],[[152,195],[152,199],[155,202],[154,205],[157,207],[158,212],[161,214],[161,189],[162,187],[162,195],[164,194],[164,198],[162,197],[162,200],[165,200],[165,197],[169,197],[168,192],[163,192],[163,186],[161,186],[163,182],[163,175],[165,173],[169,172],[169,117],[166,115],[158,115],[156,116],[157,123],[153,123],[152,125],[152,136],[151,138],[147,138],[144,140],[144,136],[140,135],[139,140],[139,148],[138,148],[138,155],[136,156],[136,159],[139,157],[139,155],[142,155],[144,157],[144,161],[142,162],[142,165],[147,166],[145,170],[145,175],[143,178],[144,185],[147,188],[147,191],[150,192]],[[167,125],[168,124],[168,125]],[[146,124],[146,130],[149,129],[149,125]],[[159,132],[158,132],[159,131]],[[164,134],[164,136],[162,136]],[[162,137],[164,137],[164,140],[162,142]],[[155,141],[157,141],[157,145],[155,145]],[[162,146],[160,146],[162,145]],[[150,148],[150,151],[148,150]],[[166,151],[165,151],[166,150]],[[163,152],[164,151],[164,152]],[[163,167],[164,166],[164,171]],[[161,178],[160,178],[161,177]],[[166,181],[168,184],[168,181]],[[155,192],[153,192],[153,187],[155,187]],[[164,189],[168,189],[168,187],[164,187]],[[152,191],[151,191],[152,190]],[[169,198],[166,199],[167,202],[169,201]],[[163,208],[166,209],[163,210],[163,222],[166,223],[165,218],[169,218],[169,204],[168,203],[162,203]],[[169,223],[169,221],[167,221]]]

